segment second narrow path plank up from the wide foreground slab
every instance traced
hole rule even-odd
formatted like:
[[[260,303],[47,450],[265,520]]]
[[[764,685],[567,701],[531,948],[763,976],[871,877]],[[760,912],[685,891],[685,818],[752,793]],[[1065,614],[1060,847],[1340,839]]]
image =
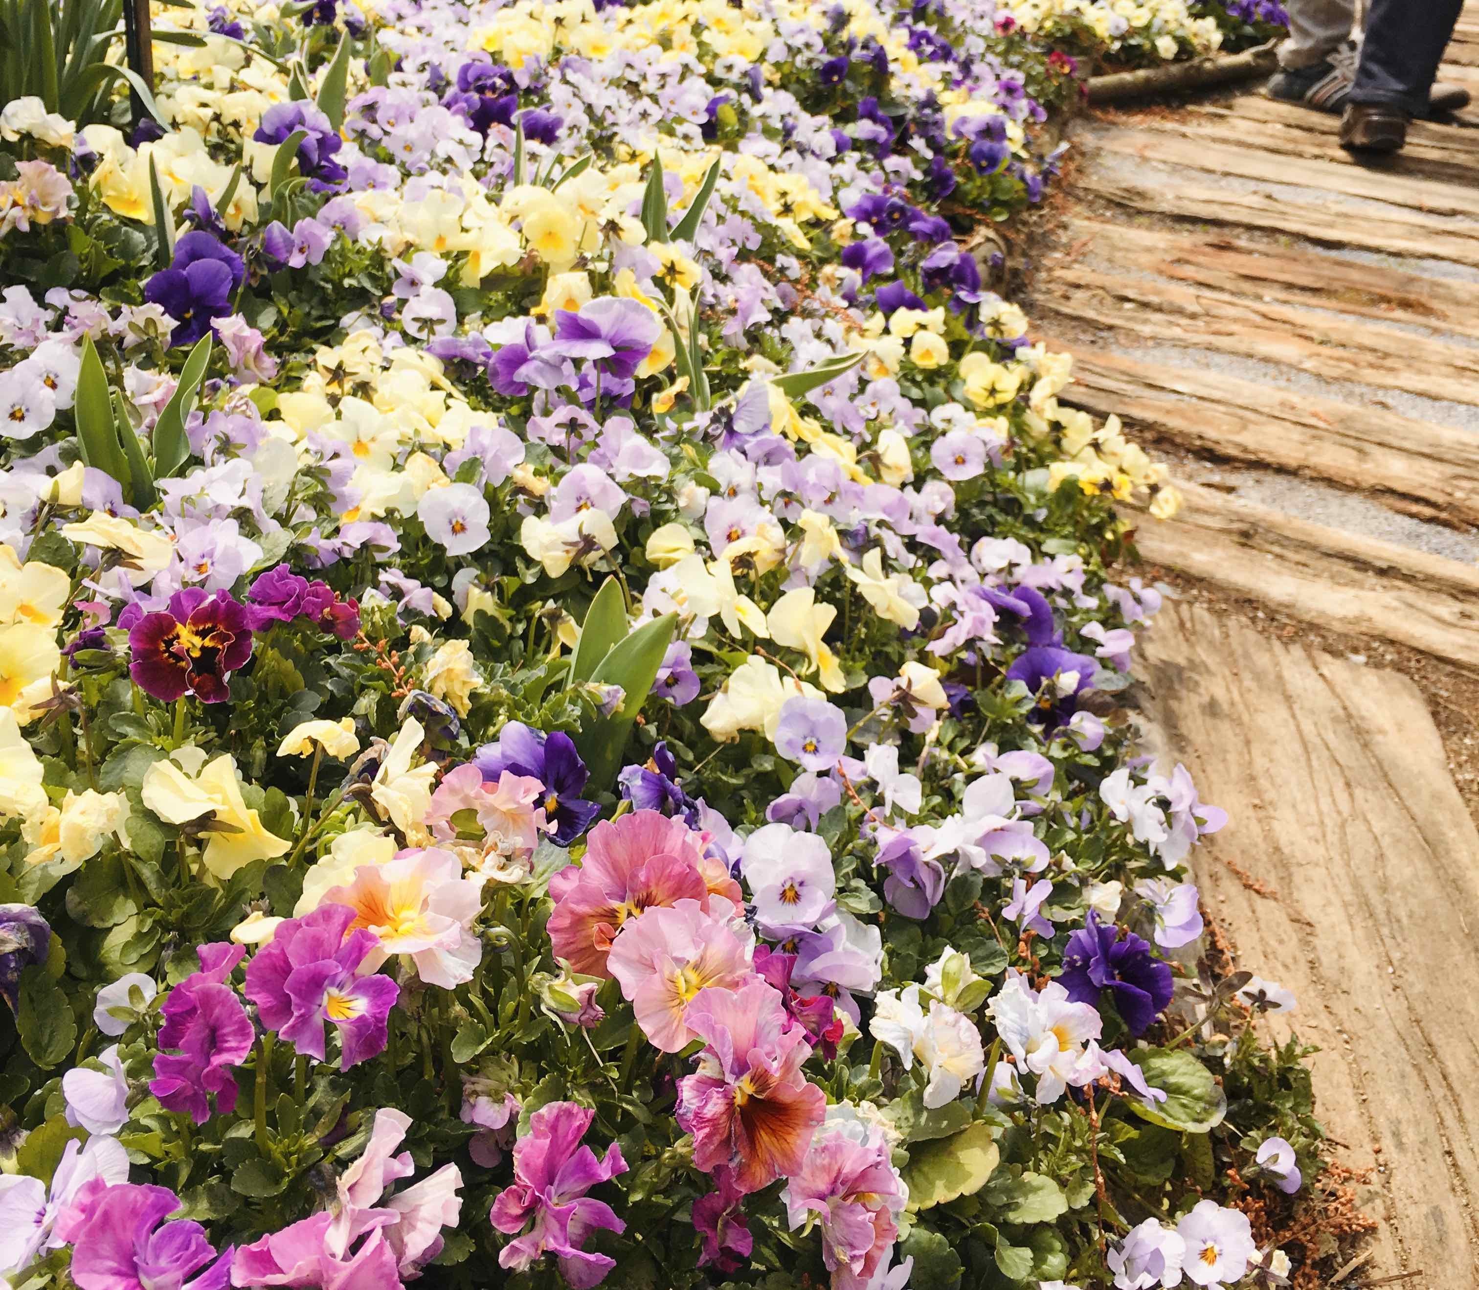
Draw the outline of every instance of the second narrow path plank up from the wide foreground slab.
[[[1365,490],[1407,515],[1479,524],[1479,435],[1205,368],[1049,348],[1074,355],[1062,395],[1074,407],[1217,459]]]

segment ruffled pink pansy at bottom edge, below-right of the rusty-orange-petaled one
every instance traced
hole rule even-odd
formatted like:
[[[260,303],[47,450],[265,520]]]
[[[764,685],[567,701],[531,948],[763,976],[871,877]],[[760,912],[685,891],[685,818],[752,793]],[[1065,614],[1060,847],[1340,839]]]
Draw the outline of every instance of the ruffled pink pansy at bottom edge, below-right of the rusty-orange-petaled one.
[[[791,1231],[816,1216],[833,1290],[868,1290],[889,1265],[899,1234],[896,1216],[908,1203],[889,1155],[879,1129],[831,1120],[781,1192]]]

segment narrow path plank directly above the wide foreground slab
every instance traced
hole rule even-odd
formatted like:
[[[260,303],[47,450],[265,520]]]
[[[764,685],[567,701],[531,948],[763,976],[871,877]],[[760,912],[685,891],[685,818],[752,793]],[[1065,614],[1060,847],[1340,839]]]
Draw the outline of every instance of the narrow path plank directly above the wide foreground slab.
[[[1136,544],[1179,570],[1306,623],[1396,641],[1479,675],[1479,570],[1183,485],[1171,521]],[[1479,925],[1476,925],[1479,926]]]

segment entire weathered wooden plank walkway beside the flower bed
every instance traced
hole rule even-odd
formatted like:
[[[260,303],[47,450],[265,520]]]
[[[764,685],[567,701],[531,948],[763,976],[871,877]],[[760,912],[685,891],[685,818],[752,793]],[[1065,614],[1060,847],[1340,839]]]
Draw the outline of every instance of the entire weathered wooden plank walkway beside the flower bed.
[[[1479,98],[1473,0],[1448,56]],[[1476,127],[1415,124],[1367,169],[1336,118],[1256,93],[1075,126],[1032,315],[1075,355],[1065,396],[1176,463],[1152,573],[1479,676]],[[1424,694],[1188,602],[1143,648],[1152,746],[1232,814],[1207,907],[1300,999],[1284,1030],[1370,1170],[1346,1284],[1479,1286],[1479,833]]]

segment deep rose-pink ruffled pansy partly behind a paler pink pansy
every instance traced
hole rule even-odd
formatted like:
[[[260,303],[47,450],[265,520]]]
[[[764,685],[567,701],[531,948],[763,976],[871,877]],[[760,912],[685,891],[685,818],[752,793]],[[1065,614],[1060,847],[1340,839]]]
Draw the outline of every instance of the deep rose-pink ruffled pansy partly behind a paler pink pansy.
[[[590,830],[586,857],[550,879],[555,954],[584,976],[611,976],[606,956],[623,923],[652,905],[708,908],[704,834],[660,811],[633,811]]]

